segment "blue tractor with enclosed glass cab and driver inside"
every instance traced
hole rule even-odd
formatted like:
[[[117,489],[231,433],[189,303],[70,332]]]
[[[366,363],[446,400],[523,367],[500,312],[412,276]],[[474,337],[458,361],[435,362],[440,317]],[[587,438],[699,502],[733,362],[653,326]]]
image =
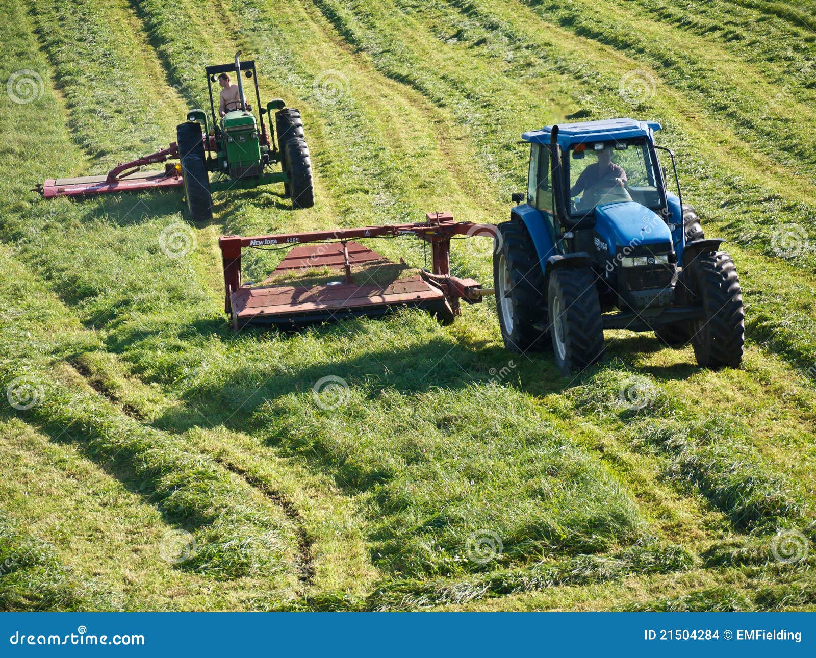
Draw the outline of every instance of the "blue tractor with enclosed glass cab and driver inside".
[[[530,174],[499,225],[494,285],[504,344],[552,347],[565,375],[600,362],[605,329],[694,345],[704,367],[738,367],[743,297],[720,238],[682,202],[658,122],[629,118],[526,132]],[[669,191],[658,151],[672,161]]]

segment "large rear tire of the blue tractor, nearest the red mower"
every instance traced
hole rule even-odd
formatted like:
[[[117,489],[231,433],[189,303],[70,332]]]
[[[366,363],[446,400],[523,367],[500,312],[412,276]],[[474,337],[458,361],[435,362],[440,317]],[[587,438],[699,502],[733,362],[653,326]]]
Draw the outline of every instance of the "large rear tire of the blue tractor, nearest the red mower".
[[[549,345],[544,275],[533,240],[519,220],[504,222],[498,228],[493,285],[504,346],[521,353],[544,349]]]

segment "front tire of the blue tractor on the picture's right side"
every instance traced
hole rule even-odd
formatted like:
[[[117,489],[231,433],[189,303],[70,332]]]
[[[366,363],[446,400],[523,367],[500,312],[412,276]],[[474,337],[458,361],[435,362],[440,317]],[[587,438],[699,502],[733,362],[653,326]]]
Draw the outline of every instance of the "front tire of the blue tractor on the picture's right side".
[[[724,251],[698,255],[688,285],[703,317],[692,322],[694,356],[703,367],[738,367],[743,360],[745,313],[734,260]]]

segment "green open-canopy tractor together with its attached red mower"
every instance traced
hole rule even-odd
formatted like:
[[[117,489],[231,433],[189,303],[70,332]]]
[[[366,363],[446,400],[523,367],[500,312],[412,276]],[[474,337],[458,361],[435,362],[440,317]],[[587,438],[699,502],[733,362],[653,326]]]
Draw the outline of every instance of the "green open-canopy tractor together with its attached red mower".
[[[176,128],[177,141],[166,149],[120,162],[102,176],[49,179],[34,189],[45,198],[84,198],[181,187],[189,217],[197,224],[212,219],[212,193],[228,189],[283,183],[292,207],[312,207],[312,163],[300,113],[287,108],[280,99],[270,100],[262,111],[255,62],[241,62],[240,55],[241,51],[235,54],[233,64],[217,64],[205,69],[212,127],[204,110],[193,109],[188,112],[187,121]],[[224,117],[219,118],[215,113],[212,83],[221,73],[235,74],[240,100],[228,104]],[[246,103],[243,77],[255,82],[257,117]],[[267,132],[264,114],[271,134]],[[180,164],[167,162],[173,158],[179,158]],[[157,162],[165,162],[164,171],[142,171],[142,167]],[[277,164],[280,171],[274,171]]]

